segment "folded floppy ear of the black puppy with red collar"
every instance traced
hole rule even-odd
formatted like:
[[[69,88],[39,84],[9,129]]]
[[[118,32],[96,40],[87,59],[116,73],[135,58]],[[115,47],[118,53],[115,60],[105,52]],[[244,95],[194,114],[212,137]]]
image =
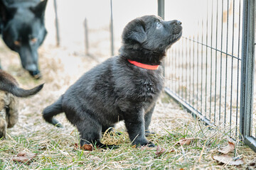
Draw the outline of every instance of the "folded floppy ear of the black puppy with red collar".
[[[144,22],[142,21],[132,21],[124,29],[123,34],[124,40],[135,40],[142,43],[146,40],[146,32]]]

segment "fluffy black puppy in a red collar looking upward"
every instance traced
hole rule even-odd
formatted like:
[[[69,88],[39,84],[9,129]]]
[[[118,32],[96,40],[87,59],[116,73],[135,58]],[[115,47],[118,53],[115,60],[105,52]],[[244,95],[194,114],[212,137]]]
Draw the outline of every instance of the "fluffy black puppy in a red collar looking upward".
[[[54,115],[65,112],[80,132],[80,145],[100,142],[101,134],[124,120],[133,145],[154,144],[146,140],[156,100],[164,86],[161,60],[181,38],[180,21],[143,16],[129,22],[122,33],[122,47],[112,57],[85,73],[43,111],[43,118],[61,126]]]

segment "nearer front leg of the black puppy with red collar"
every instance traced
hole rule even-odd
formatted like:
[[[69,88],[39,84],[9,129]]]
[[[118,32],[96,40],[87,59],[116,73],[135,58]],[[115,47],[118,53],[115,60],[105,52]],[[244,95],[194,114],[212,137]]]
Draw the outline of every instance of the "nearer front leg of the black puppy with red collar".
[[[132,116],[131,116],[132,115]],[[128,111],[124,113],[124,123],[129,134],[129,139],[132,141],[132,145],[148,145],[154,147],[154,144],[146,140],[145,137],[145,124],[144,124],[144,112]]]

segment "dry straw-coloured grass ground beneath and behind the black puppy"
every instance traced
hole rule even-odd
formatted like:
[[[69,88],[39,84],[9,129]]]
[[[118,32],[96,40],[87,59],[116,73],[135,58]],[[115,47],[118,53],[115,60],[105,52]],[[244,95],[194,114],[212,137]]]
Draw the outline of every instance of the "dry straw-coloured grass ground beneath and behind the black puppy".
[[[242,157],[244,164],[229,166],[213,160],[218,149],[227,145],[228,135],[210,129],[182,110],[163,95],[151,122],[156,135],[148,137],[156,148],[132,147],[123,123],[116,131],[122,135],[105,135],[102,142],[119,144],[119,149],[95,149],[92,152],[76,149],[78,131],[58,115],[65,128],[45,123],[43,108],[55,101],[78,77],[97,64],[97,58],[73,54],[67,49],[41,47],[40,65],[43,79],[36,81],[21,69],[16,53],[1,47],[0,59],[4,69],[13,74],[24,88],[45,82],[43,91],[20,102],[18,123],[8,130],[8,139],[0,142],[0,169],[247,169],[256,162],[256,153],[244,145],[236,145],[231,156]],[[9,58],[9,59],[7,59]],[[179,145],[181,139],[192,139],[189,145]],[[33,152],[36,157],[22,164],[11,161],[18,152]]]

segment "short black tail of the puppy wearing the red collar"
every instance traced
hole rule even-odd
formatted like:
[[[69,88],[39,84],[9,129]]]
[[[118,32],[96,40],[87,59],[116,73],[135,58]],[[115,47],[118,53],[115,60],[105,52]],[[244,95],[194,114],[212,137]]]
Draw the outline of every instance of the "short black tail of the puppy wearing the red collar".
[[[58,101],[55,101],[55,103],[53,103],[52,105],[48,106],[43,110],[44,120],[46,120],[46,122],[50,124],[57,126],[58,128],[62,128],[63,126],[58,122],[58,120],[53,118],[53,116],[63,113],[62,99],[63,96],[60,96]]]

